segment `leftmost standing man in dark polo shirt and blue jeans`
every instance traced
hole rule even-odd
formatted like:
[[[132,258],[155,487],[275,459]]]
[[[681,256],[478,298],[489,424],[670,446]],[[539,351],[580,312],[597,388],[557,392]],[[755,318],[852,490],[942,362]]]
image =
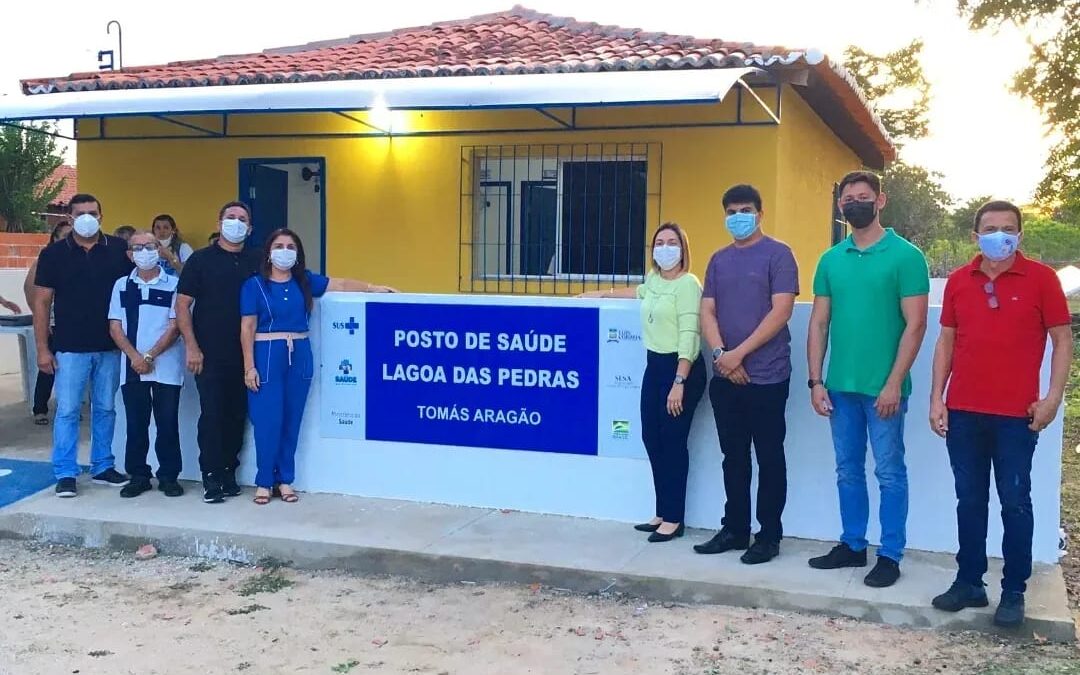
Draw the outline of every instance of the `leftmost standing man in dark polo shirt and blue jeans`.
[[[53,426],[53,472],[57,497],[76,496],[79,475],[79,408],[91,392],[90,470],[94,483],[121,487],[127,476],[117,472],[112,432],[120,386],[120,352],[109,336],[112,284],[132,270],[126,244],[102,232],[102,204],[92,194],[76,194],[68,206],[75,229],[50,244],[38,258],[33,284],[33,336],[38,368],[56,375],[56,419]],[[50,349],[50,307],[56,325]]]

